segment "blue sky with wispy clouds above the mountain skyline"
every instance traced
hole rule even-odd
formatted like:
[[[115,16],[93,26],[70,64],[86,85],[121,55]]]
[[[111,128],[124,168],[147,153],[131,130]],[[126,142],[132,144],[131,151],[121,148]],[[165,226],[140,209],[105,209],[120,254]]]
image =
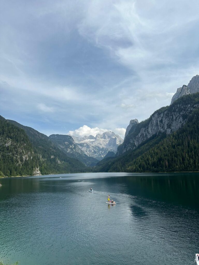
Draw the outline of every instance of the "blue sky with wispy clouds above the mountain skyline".
[[[123,137],[199,74],[197,0],[1,7],[0,115],[46,135]]]

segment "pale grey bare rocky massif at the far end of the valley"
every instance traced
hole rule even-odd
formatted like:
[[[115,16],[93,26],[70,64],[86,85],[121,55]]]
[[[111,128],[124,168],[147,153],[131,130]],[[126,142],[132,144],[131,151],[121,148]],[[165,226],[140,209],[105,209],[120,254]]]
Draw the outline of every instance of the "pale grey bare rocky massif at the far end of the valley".
[[[72,137],[87,156],[97,160],[102,160],[109,151],[116,153],[118,146],[123,142],[123,139],[112,131],[97,134],[96,137],[92,135],[83,138]]]

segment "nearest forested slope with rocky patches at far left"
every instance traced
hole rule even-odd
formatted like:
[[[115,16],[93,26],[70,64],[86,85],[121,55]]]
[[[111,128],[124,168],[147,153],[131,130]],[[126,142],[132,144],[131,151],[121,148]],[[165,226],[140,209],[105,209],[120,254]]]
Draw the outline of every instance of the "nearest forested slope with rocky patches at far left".
[[[38,167],[25,131],[0,116],[0,177],[38,174]]]

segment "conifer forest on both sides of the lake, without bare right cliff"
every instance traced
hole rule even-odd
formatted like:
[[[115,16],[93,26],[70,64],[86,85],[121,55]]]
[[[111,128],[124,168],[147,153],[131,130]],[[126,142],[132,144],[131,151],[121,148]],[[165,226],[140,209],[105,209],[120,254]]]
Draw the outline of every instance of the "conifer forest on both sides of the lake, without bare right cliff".
[[[76,172],[171,172],[199,170],[199,93],[183,96],[172,105],[154,114],[167,115],[177,109],[185,113],[183,126],[171,134],[158,133],[145,140],[135,149],[118,156],[107,155],[95,167],[87,167],[75,158],[67,156],[56,142],[18,122],[0,116],[0,176]],[[190,107],[191,106],[191,107]],[[189,108],[187,112],[184,112]],[[176,111],[175,111],[176,112]],[[170,114],[169,114],[170,113]],[[154,115],[152,114],[152,115]],[[140,122],[129,131],[126,143],[151,121]]]

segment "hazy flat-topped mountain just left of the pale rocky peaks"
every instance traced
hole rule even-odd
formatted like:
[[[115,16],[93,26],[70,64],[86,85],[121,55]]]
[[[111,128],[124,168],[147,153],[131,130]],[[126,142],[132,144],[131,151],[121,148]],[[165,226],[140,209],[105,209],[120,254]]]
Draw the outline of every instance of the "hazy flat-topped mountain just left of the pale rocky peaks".
[[[90,138],[89,138],[90,137]],[[84,136],[84,140],[92,139],[94,136]],[[87,156],[81,148],[74,142],[72,136],[52,134],[49,139],[53,141],[67,156],[76,158],[86,166],[95,166],[99,160]]]

